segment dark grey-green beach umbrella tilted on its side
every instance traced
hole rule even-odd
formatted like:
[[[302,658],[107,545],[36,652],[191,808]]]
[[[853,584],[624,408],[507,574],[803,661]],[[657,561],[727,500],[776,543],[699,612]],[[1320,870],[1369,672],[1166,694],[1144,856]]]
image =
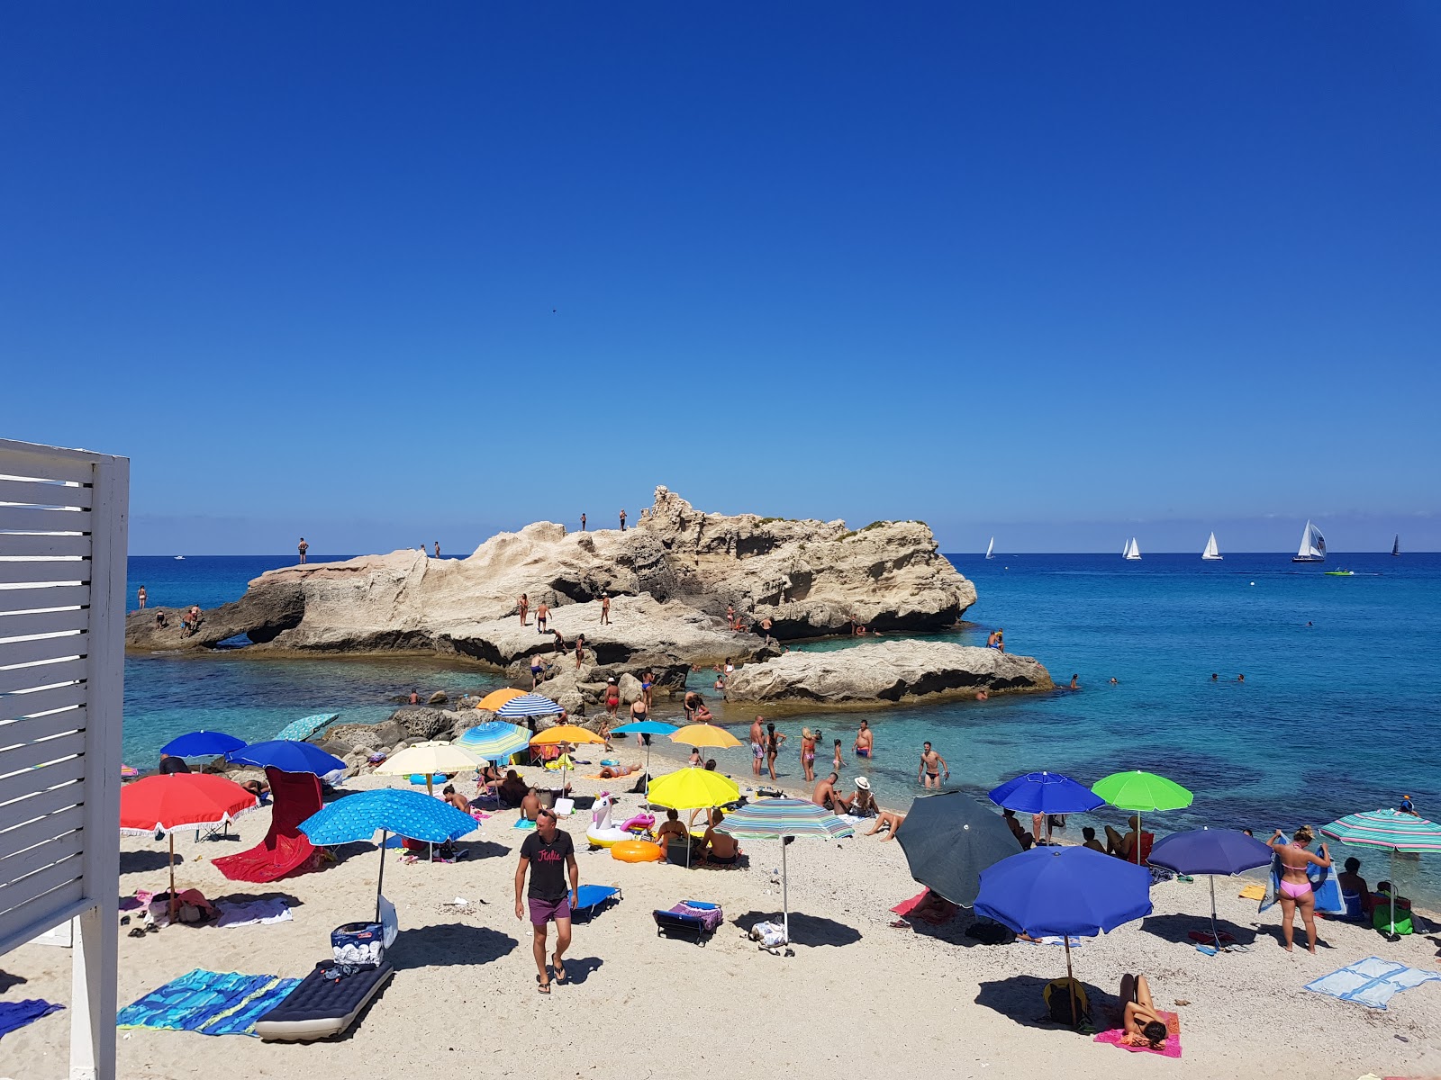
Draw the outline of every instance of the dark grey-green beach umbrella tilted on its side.
[[[976,903],[986,867],[1016,854],[1016,838],[1000,815],[964,792],[912,802],[896,841],[911,877],[961,907]]]

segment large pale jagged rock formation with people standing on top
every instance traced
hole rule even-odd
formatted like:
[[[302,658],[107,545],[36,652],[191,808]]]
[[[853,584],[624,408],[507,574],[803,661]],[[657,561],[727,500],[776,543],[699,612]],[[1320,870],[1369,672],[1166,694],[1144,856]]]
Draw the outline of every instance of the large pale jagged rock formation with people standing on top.
[[[611,625],[599,599],[610,593]],[[530,626],[516,618],[522,593]],[[138,649],[213,648],[239,638],[262,652],[451,652],[506,667],[549,652],[535,629],[540,602],[550,626],[574,644],[585,634],[594,662],[679,668],[755,657],[764,638],[732,631],[733,606],[752,631],[795,639],[876,629],[938,631],[976,600],[976,589],[937,550],[918,521],[790,521],[705,514],[666,488],[621,533],[566,533],[537,523],[491,537],[468,559],[415,550],[343,563],[269,570],[233,603],[205,612],[180,635],[180,612],[156,626],[134,612],[125,641]]]

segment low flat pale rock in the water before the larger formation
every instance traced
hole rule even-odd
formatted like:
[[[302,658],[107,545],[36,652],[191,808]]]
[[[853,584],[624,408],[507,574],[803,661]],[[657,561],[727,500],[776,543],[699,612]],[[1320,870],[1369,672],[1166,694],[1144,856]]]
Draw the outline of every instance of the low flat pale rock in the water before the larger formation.
[[[1050,674],[1032,657],[944,641],[886,641],[833,652],[787,652],[764,664],[746,664],[726,680],[726,701],[811,701],[830,706],[875,706],[1052,690]]]

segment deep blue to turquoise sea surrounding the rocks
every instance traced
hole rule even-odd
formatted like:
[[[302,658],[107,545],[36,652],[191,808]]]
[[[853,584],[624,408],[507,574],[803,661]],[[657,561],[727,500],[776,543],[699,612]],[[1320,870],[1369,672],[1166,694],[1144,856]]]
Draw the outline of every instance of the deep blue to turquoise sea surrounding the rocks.
[[[867,773],[882,804],[906,805],[921,743],[931,740],[953,783],[976,792],[1033,769],[1087,783],[1118,769],[1170,776],[1196,801],[1147,822],[1160,832],[1321,825],[1393,806],[1404,793],[1422,815],[1441,814],[1441,554],[1333,553],[1323,566],[1294,566],[1288,554],[1226,554],[1221,563],[1196,554],[1130,563],[1117,554],[951,560],[980,595],[955,639],[984,644],[990,628],[1003,626],[1010,652],[1035,655],[1058,684],[1078,674],[1082,690],[784,717],[781,730],[793,736],[806,724],[820,727],[827,743],[842,739],[847,779]],[[133,557],[131,596],[144,583],[151,603],[213,606],[290,562]],[[1355,576],[1323,573],[1340,567]],[[125,674],[131,765],[151,763],[169,737],[197,727],[269,737],[316,711],[380,720],[393,708],[388,698],[412,685],[501,685],[457,662],[241,655],[131,657]],[[1241,674],[1245,683],[1236,681]],[[695,683],[708,693],[709,678]],[[710,704],[723,721],[749,723],[746,710]],[[849,750],[862,716],[876,729],[878,755],[857,766]],[[731,753],[735,760],[723,768],[745,773],[748,750]],[[794,756],[784,765],[781,783],[801,788]],[[1120,825],[1124,816],[1102,812],[1092,824]],[[1072,818],[1069,831],[1082,824]],[[1383,860],[1360,854],[1363,873],[1376,877]],[[1441,907],[1441,871],[1409,864],[1401,884]]]

